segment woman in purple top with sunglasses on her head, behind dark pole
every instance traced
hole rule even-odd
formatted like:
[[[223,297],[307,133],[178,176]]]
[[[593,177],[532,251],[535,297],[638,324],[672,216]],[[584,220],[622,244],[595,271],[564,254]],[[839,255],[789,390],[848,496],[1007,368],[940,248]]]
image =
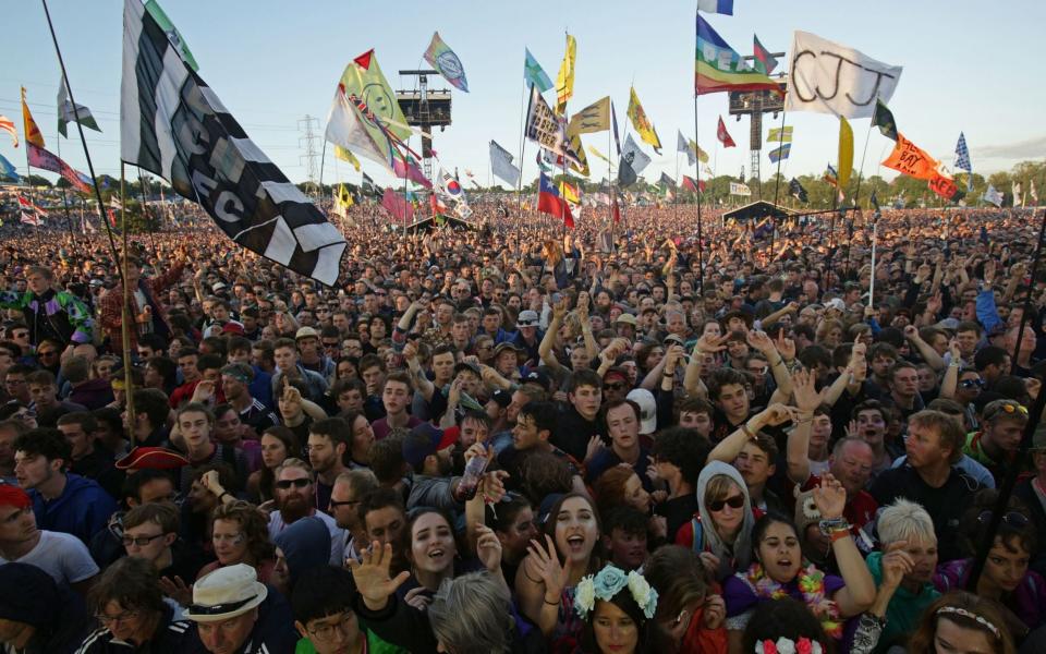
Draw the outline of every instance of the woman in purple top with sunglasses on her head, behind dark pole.
[[[982,491],[963,514],[959,540],[968,558],[948,561],[937,568],[934,585],[941,593],[966,588],[972,557],[976,556],[989,533],[997,499],[996,491]],[[1029,631],[1046,622],[1046,580],[1029,569],[1037,547],[1035,524],[1023,504],[1011,497],[988,549],[976,593],[999,604],[1007,627],[1018,643]]]

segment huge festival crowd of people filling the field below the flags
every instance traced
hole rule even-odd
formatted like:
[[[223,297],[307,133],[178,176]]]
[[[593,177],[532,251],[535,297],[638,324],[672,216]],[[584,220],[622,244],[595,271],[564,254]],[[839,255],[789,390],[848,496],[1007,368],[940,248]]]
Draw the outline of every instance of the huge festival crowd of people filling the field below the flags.
[[[1046,650],[1031,211],[474,208],[5,239],[2,651]]]

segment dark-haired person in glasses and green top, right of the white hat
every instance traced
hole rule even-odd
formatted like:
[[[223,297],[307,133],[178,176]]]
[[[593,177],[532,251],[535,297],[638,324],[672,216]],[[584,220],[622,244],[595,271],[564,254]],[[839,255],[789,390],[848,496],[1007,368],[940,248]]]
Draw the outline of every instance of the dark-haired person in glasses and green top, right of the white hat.
[[[406,650],[390,645],[368,630],[353,606],[358,601],[352,572],[333,566],[302,574],[291,596],[294,628],[302,635],[300,654],[400,654]]]

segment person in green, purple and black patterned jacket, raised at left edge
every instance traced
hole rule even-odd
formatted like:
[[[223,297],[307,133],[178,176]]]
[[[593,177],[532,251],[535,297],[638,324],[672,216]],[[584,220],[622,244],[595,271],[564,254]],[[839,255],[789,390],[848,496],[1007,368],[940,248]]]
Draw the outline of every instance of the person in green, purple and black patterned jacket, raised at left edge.
[[[92,341],[95,325],[90,310],[72,293],[53,288],[54,272],[50,268],[28,266],[25,278],[24,293],[0,292],[0,307],[22,312],[31,343],[53,339],[68,347]],[[17,340],[17,335],[12,336]]]

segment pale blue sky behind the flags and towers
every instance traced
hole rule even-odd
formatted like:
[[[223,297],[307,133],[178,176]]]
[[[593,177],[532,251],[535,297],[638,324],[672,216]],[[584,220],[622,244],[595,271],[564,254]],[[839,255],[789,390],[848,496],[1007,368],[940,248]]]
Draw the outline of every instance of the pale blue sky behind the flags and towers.
[[[629,85],[634,80],[665,144],[644,177],[656,180],[662,170],[674,177],[676,131],[682,129],[690,136],[694,131],[693,1],[166,0],[162,5],[196,56],[200,75],[293,181],[306,179],[304,132],[297,121],[305,114],[317,117],[321,133],[345,63],[376,48],[391,85],[413,88],[413,78],[401,78],[397,71],[424,64],[422,53],[435,29],[461,58],[471,93],[453,90],[453,125],[437,132],[434,147],[445,166],[471,169],[481,183],[487,181],[490,138],[513,154],[519,148],[524,46],[555,80],[565,29],[577,39],[569,110],[609,94],[623,129]],[[51,0],[49,7],[76,99],[94,111],[104,130],[102,134],[86,131],[96,173],[119,174],[123,2]],[[48,148],[57,152],[59,66],[44,10],[38,0],[5,0],[3,12],[0,113],[21,126],[19,86],[24,85]],[[977,172],[1043,157],[1046,129],[1041,108],[1046,105],[1046,92],[1035,78],[1032,50],[1046,23],[1046,2],[1019,0],[988,8],[971,0],[735,0],[734,13],[707,19],[742,55],[751,53],[753,32],[770,50],[786,51],[792,31],[803,29],[903,65],[890,102],[898,126],[949,166],[960,131],[965,132]],[[436,86],[449,87],[441,78]],[[726,117],[726,94],[698,100],[700,142],[709,153],[715,149],[716,120],[720,113]],[[861,162],[868,122],[853,121],[855,166]],[[747,171],[747,119],[727,124],[739,147],[719,149],[716,172],[737,174],[742,165]],[[794,125],[794,144],[786,174],[819,173],[827,162],[835,162],[836,119],[790,114],[788,124]],[[70,135],[75,137],[75,130]],[[606,133],[584,140],[607,152]],[[865,174],[891,177],[877,167],[889,145],[877,131],[872,134]],[[766,149],[764,178],[771,172]],[[536,172],[534,152],[528,144],[527,180]],[[0,154],[24,170],[24,147],[14,149],[3,134]],[[86,172],[78,138],[62,140],[61,154]],[[591,162],[594,179],[606,174],[605,164]],[[337,166],[336,175],[328,150],[325,182],[358,181],[345,164]],[[389,180],[376,165],[364,162],[364,167],[376,180]],[[693,169],[686,172],[693,174]]]

